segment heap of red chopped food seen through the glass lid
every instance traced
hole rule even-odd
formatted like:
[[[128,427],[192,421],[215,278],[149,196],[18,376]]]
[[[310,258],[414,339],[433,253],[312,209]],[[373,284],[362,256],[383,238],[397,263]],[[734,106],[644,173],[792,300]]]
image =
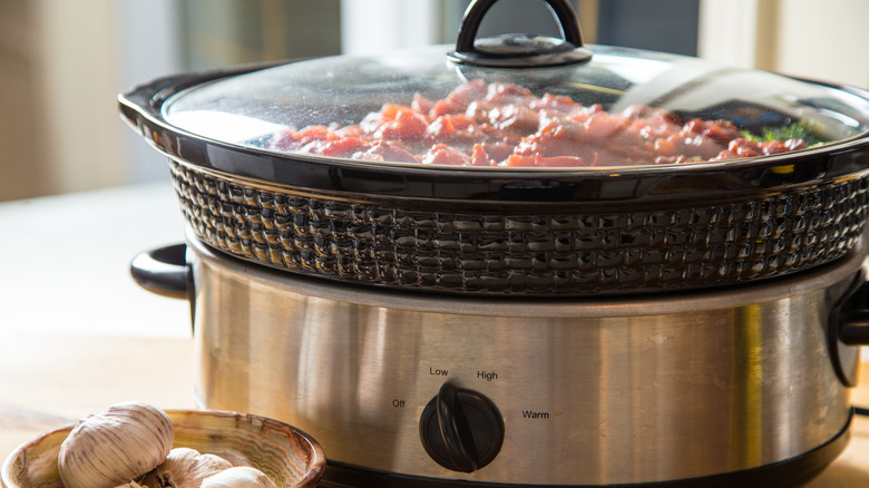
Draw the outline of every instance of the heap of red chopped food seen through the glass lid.
[[[801,149],[813,143],[799,137],[804,128],[752,135],[726,120],[682,120],[644,106],[607,113],[601,105],[478,79],[443,99],[417,94],[410,105],[385,104],[359,124],[291,127],[272,137],[268,148],[434,165],[617,167]]]

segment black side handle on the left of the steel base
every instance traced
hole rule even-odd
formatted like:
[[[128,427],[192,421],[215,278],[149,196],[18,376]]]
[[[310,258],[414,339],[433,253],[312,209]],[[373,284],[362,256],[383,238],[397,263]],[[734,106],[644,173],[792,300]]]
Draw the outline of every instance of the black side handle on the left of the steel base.
[[[174,244],[139,253],[130,263],[130,275],[139,286],[152,293],[187,300],[192,289],[187,245]]]

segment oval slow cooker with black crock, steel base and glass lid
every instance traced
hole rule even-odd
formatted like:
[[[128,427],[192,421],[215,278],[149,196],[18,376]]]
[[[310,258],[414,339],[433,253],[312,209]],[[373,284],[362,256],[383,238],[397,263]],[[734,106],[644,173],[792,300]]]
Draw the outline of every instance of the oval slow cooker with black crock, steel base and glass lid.
[[[866,330],[869,94],[562,39],[160,78],[119,97],[186,243],[203,407],[314,436],[325,486],[808,481]]]

